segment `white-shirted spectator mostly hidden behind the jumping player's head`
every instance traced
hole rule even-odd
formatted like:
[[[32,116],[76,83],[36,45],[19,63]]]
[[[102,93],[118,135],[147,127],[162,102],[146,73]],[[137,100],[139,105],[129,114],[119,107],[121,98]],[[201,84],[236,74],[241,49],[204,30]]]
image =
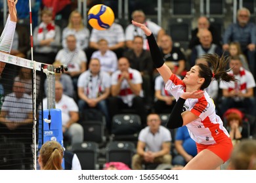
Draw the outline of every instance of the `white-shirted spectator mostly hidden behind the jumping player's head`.
[[[203,58],[197,58],[196,59],[196,65],[203,64],[209,66],[209,62],[206,61]],[[213,99],[213,101],[217,101],[218,93],[219,93],[219,83],[217,80],[212,80],[211,83],[207,88],[205,88],[205,91],[209,94],[209,96]]]

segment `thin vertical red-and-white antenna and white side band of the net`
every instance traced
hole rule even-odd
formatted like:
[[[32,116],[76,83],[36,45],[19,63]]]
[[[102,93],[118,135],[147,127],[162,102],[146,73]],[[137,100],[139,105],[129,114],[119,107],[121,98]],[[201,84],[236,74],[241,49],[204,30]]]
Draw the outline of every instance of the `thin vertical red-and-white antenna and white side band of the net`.
[[[33,169],[37,168],[37,148],[36,148],[36,63],[33,60],[33,30],[32,30],[32,6],[31,0],[29,0],[30,4],[30,45],[31,45],[31,60],[33,62]]]

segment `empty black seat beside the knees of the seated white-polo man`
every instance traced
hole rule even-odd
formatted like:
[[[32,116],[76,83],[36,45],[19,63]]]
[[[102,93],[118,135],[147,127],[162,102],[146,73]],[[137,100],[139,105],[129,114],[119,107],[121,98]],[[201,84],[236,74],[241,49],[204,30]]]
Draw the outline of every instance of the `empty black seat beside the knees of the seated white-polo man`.
[[[131,168],[131,161],[136,152],[133,142],[115,141],[106,146],[106,162],[122,162]]]

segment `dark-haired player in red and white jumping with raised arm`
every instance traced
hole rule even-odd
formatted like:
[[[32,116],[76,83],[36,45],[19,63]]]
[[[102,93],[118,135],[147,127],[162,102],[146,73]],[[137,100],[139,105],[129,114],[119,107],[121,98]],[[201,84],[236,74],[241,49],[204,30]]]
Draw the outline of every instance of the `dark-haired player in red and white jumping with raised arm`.
[[[235,80],[225,71],[226,60],[207,54],[203,58],[211,62],[213,71],[202,64],[194,65],[180,80],[165,65],[150,29],[134,21],[133,25],[140,27],[146,34],[154,65],[165,81],[165,90],[170,90],[177,100],[167,127],[174,129],[186,125],[190,136],[196,141],[198,154],[184,169],[220,169],[221,164],[230,158],[232,142],[221,118],[215,113],[213,100],[203,89],[209,86],[212,79],[226,82]]]

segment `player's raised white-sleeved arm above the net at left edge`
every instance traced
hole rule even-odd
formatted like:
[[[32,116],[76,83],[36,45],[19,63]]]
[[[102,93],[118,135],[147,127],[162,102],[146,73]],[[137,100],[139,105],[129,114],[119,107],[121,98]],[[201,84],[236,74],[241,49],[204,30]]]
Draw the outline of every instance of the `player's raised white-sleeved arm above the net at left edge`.
[[[16,28],[17,22],[17,11],[16,11],[16,3],[18,0],[7,0],[7,5],[9,8],[9,16],[7,18],[7,22],[5,24],[5,28],[0,37],[0,52],[10,53],[12,48],[12,41],[14,37],[14,32]],[[5,68],[5,63],[0,61],[0,76]]]

